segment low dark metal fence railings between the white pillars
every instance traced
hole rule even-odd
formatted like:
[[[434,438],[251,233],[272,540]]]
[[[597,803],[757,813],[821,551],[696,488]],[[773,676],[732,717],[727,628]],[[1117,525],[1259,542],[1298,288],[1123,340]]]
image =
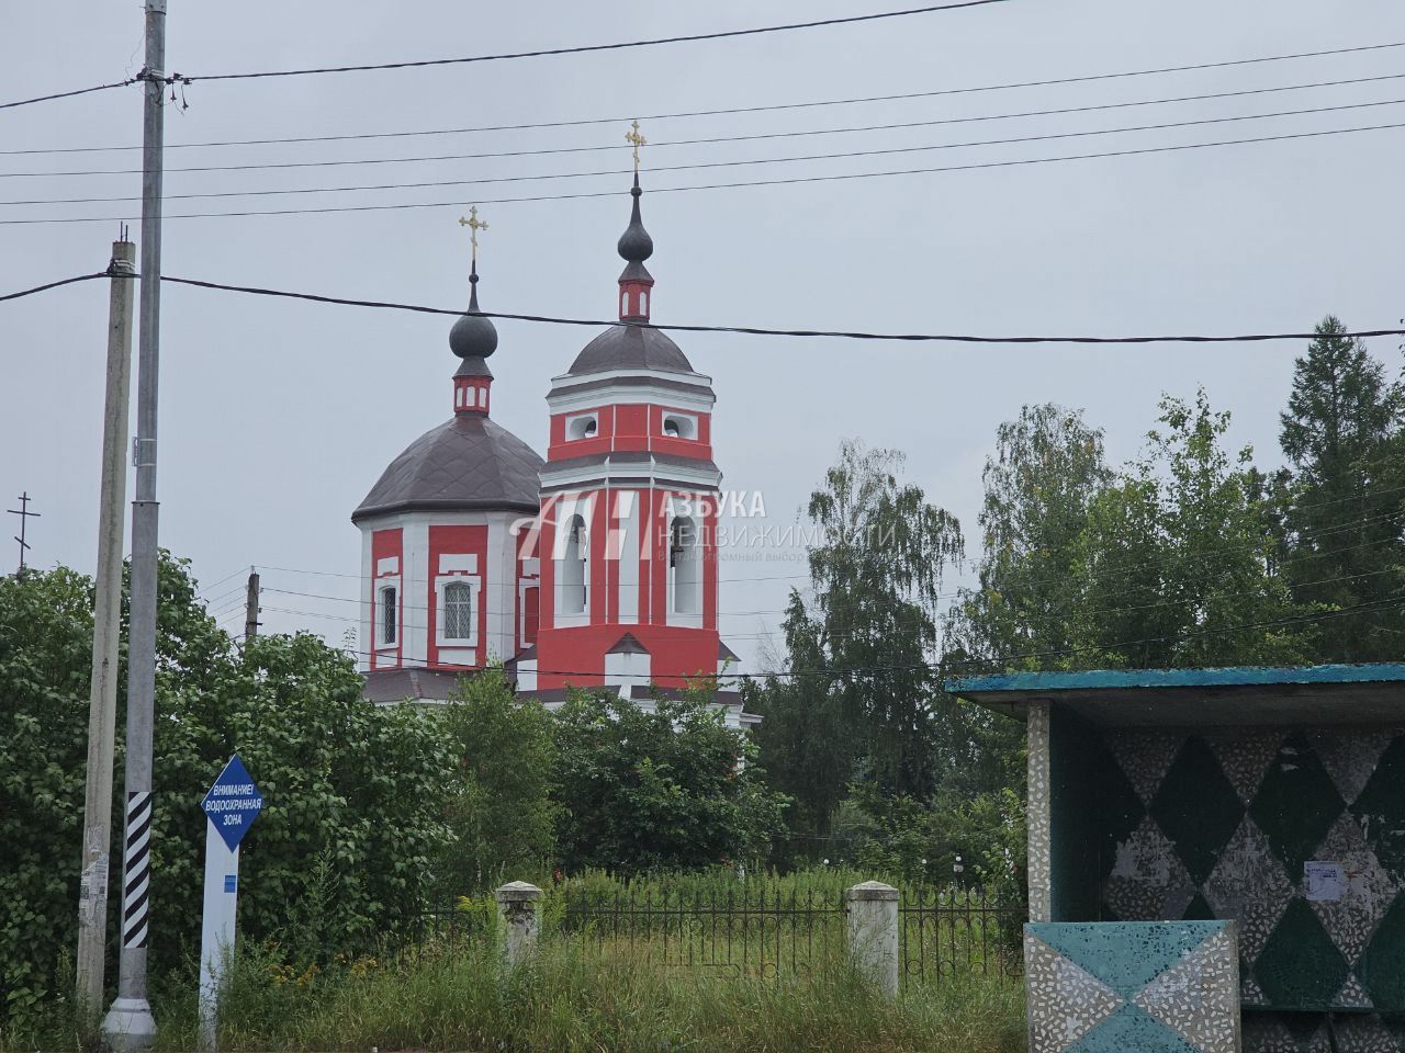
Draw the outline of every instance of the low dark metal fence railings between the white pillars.
[[[905,889],[896,903],[898,972],[908,983],[1023,972],[1023,903],[981,889]],[[665,969],[715,969],[739,977],[815,976],[849,962],[843,892],[749,885],[735,890],[572,889],[534,904],[544,941],[599,959]],[[398,934],[407,951],[465,945],[492,929],[482,910],[440,910]]]

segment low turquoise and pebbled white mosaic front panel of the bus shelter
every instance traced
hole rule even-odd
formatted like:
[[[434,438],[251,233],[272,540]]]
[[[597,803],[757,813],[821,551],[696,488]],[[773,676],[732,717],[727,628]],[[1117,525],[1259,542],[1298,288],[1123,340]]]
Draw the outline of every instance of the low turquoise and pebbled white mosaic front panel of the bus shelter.
[[[1238,1053],[1224,921],[1024,927],[1030,1053]]]

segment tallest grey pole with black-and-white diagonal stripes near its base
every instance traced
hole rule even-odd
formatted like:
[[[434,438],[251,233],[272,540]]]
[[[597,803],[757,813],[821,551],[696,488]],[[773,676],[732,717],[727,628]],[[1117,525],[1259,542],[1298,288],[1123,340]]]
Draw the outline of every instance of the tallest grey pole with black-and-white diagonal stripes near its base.
[[[136,388],[136,500],[126,644],[126,837],[122,854],[122,958],[103,1033],[117,1053],[148,1049],[156,1021],[146,1000],[148,892],[152,879],[152,723],[156,696],[156,376],[162,317],[162,150],[166,0],[146,0],[146,104],[142,121],[140,372]]]

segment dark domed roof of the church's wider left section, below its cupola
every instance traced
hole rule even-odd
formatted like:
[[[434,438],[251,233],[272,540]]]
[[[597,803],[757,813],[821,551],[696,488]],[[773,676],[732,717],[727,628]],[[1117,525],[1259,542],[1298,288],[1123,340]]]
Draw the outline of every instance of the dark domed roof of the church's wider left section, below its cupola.
[[[424,432],[381,475],[351,522],[412,510],[534,512],[541,501],[537,452],[488,417],[465,413]]]

